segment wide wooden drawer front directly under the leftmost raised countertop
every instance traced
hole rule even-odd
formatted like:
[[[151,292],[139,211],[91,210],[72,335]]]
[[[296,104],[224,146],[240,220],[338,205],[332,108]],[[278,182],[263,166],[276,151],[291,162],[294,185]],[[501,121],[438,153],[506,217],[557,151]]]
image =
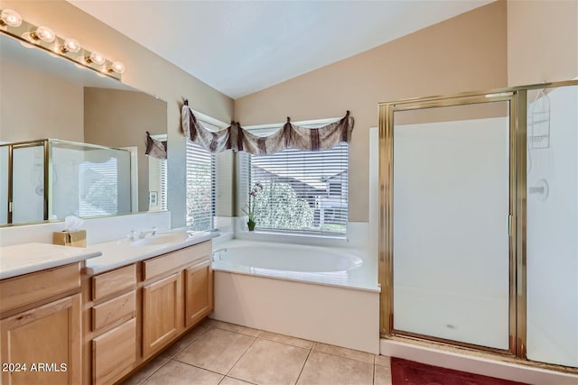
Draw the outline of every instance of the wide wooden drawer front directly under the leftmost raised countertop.
[[[80,288],[80,263],[0,281],[0,312]]]

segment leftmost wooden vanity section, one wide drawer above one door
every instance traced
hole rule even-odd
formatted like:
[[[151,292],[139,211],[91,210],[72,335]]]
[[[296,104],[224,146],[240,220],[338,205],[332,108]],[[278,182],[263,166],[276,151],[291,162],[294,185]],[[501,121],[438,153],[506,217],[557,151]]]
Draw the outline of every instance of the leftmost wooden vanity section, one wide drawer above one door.
[[[0,281],[1,383],[81,383],[79,292],[79,262]]]

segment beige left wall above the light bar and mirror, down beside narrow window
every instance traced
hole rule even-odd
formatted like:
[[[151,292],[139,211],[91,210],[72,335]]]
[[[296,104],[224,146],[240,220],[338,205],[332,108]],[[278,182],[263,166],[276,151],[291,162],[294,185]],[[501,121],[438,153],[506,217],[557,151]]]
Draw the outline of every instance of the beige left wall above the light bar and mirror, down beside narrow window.
[[[48,25],[61,36],[74,37],[88,50],[98,50],[109,58],[123,61],[126,65],[124,83],[167,102],[169,210],[173,227],[185,225],[182,98],[188,98],[195,110],[223,122],[230,122],[233,116],[233,100],[64,0],[2,0],[0,7],[14,9],[30,23]]]

